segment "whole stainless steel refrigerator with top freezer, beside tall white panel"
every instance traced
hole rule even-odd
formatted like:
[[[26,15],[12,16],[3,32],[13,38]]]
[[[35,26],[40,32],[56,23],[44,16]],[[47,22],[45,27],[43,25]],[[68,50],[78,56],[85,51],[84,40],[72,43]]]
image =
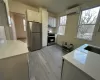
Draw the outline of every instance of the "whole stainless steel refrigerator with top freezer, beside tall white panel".
[[[42,24],[38,22],[27,22],[27,41],[29,51],[42,48]]]

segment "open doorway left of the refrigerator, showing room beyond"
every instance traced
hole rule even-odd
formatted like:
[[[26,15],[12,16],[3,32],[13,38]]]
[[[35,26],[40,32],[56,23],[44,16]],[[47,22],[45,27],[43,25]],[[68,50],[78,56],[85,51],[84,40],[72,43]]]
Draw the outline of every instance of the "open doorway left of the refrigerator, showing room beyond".
[[[25,14],[10,12],[11,14],[11,28],[12,38],[27,42],[26,39],[26,19]]]

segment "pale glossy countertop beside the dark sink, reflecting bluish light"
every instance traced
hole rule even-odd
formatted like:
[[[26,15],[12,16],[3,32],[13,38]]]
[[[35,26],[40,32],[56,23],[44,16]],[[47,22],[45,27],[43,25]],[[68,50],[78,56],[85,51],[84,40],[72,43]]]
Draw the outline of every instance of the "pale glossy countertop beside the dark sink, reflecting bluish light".
[[[66,54],[63,56],[63,59],[72,63],[93,79],[100,80],[100,55],[85,50],[84,48],[86,46],[88,46],[88,44],[85,44],[69,54]]]

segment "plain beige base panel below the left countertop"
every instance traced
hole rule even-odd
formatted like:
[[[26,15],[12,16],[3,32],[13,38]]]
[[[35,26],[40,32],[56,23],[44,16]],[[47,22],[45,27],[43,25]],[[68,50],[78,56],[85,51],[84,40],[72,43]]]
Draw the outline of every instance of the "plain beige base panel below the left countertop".
[[[28,54],[0,60],[0,80],[29,80]]]

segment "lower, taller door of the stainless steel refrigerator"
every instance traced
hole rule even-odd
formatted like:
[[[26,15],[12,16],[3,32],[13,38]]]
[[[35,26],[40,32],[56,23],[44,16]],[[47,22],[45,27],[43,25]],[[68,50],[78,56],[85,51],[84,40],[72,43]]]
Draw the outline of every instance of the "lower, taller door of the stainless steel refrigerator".
[[[41,33],[32,33],[31,51],[39,50],[42,48],[42,35]]]

